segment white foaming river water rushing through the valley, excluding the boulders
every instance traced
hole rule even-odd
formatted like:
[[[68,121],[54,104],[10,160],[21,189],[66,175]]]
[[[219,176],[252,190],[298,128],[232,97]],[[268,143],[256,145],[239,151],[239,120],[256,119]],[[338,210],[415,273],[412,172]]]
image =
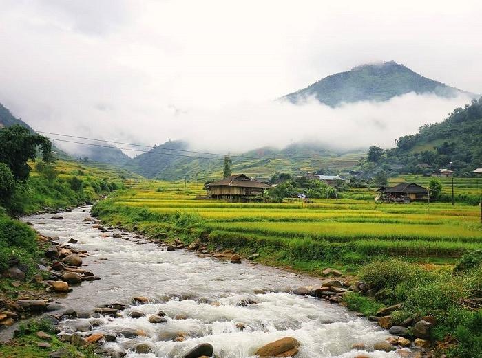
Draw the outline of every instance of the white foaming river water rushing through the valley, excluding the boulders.
[[[182,357],[197,344],[213,345],[216,357],[255,357],[262,345],[282,337],[295,337],[300,343],[297,358],[353,358],[364,351],[352,350],[363,342],[372,350],[375,342],[384,341],[388,332],[357,317],[341,306],[317,298],[292,295],[289,289],[319,284],[279,269],[243,262],[234,265],[214,258],[198,258],[187,250],[165,251],[154,243],[134,239],[101,237],[101,230],[85,221],[88,210],[76,209],[62,214],[64,220],[52,220],[50,214],[30,216],[26,220],[47,236],[59,236],[61,243],[70,238],[76,249],[86,249],[85,269],[101,280],[83,282],[67,298],[57,302],[76,311],[92,311],[101,304],[130,304],[136,295],[152,298],[153,304],[133,306],[121,311],[123,317],[76,319],[67,325],[87,326],[94,332],[119,332],[125,328],[142,330],[145,336],[119,338],[106,346],[122,346],[127,357]],[[264,291],[266,293],[260,293]],[[241,300],[256,304],[242,306]],[[214,302],[214,303],[213,303]],[[132,310],[144,317],[129,317]],[[149,315],[163,311],[167,322],[151,324]],[[174,320],[178,314],[187,317]],[[94,328],[90,325],[94,323]],[[240,323],[245,328],[240,329]],[[242,327],[241,327],[242,328]],[[179,334],[185,341],[175,342]],[[151,344],[152,353],[134,353],[139,342]],[[370,352],[370,357],[400,357],[397,353]]]

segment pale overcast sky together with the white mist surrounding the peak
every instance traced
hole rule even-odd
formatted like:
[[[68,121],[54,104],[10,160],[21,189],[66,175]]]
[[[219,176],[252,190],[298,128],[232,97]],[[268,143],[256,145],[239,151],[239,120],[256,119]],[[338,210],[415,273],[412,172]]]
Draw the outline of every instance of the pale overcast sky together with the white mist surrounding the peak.
[[[272,100],[384,60],[482,93],[480,1],[0,0],[0,8],[0,102],[38,130],[236,151],[327,141],[337,121],[338,141],[350,146],[346,133],[368,121],[355,144],[389,146],[467,98],[404,96],[362,112]],[[394,109],[404,123],[389,131]]]

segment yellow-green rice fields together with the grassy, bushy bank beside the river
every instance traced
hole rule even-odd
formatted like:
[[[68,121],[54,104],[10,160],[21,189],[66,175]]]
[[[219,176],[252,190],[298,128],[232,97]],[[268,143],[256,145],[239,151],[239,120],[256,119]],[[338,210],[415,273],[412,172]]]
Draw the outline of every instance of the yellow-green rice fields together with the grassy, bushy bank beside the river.
[[[92,214],[152,238],[202,240],[244,257],[257,253],[255,260],[268,265],[312,274],[342,269],[381,292],[377,299],[350,293],[350,309],[370,315],[403,303],[393,324],[434,317],[432,339],[448,342],[452,357],[482,355],[482,316],[461,304],[481,289],[481,260],[467,256],[482,244],[479,208],[353,199],[226,203],[195,200],[199,194],[200,184],[186,190],[182,183],[142,184],[97,203]],[[454,272],[457,262],[472,263]]]

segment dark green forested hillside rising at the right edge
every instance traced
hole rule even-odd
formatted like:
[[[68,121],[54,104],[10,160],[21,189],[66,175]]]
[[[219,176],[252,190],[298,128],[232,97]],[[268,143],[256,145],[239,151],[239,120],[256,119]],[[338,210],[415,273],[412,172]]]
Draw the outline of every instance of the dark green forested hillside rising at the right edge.
[[[446,120],[422,126],[415,135],[397,139],[379,166],[390,164],[399,172],[448,168],[459,175],[482,168],[482,98],[456,108]]]

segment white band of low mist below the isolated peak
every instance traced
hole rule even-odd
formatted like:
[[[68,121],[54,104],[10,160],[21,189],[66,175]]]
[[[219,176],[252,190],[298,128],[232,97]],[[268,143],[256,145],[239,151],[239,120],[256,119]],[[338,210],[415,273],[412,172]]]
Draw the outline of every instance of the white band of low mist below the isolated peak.
[[[127,113],[102,109],[83,113],[80,121],[51,120],[42,126],[55,133],[136,144],[182,139],[192,149],[216,153],[241,153],[262,146],[283,148],[295,142],[315,142],[333,150],[374,144],[390,148],[401,135],[416,133],[423,124],[440,122],[455,107],[469,101],[465,96],[446,99],[408,93],[386,102],[357,102],[335,108],[313,99],[301,105],[246,102],[218,109],[167,107],[135,113],[134,109]],[[75,153],[85,152],[74,148],[75,144],[58,144]]]

